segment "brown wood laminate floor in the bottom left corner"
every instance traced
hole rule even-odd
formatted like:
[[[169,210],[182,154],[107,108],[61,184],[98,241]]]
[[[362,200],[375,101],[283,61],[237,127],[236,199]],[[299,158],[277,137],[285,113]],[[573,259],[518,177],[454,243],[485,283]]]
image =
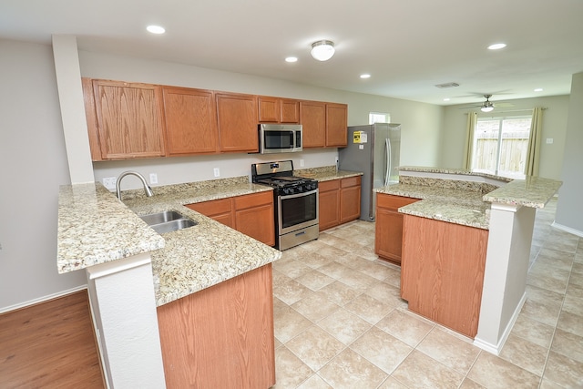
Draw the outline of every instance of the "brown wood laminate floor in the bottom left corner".
[[[0,314],[0,388],[104,388],[87,291]]]

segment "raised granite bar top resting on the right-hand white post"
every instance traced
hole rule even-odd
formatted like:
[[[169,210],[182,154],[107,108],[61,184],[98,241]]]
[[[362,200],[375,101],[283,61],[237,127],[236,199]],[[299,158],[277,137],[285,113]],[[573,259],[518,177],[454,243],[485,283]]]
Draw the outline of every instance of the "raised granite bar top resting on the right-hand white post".
[[[562,184],[562,181],[557,181],[556,179],[543,179],[540,177],[515,179],[504,187],[487,193],[483,199],[497,204],[544,208],[547,201],[557,193]]]

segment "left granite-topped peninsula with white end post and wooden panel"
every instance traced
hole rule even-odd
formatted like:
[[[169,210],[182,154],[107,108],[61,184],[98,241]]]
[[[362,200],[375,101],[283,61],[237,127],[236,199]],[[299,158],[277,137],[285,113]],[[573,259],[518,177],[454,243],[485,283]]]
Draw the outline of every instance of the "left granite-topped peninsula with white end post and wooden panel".
[[[271,262],[281,252],[185,207],[268,191],[247,177],[158,187],[151,198],[124,191],[124,202],[98,183],[60,188],[58,271],[87,271],[111,387],[274,384]],[[197,224],[159,235],[138,214],[160,210]]]

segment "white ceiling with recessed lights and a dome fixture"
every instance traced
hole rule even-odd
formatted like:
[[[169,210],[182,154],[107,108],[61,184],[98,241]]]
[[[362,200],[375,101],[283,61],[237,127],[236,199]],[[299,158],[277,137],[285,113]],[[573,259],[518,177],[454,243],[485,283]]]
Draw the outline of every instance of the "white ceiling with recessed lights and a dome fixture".
[[[567,95],[582,19],[582,0],[1,0],[0,39],[70,34],[87,51],[450,105]],[[327,62],[310,56],[320,39],[336,46]]]

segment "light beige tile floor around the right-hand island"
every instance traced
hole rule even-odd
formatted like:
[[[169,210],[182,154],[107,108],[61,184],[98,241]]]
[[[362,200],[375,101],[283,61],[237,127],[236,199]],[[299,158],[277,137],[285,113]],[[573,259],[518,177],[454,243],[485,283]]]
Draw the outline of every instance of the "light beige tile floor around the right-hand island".
[[[527,302],[499,356],[407,311],[354,221],[273,263],[276,389],[582,388],[583,239],[537,210]]]

